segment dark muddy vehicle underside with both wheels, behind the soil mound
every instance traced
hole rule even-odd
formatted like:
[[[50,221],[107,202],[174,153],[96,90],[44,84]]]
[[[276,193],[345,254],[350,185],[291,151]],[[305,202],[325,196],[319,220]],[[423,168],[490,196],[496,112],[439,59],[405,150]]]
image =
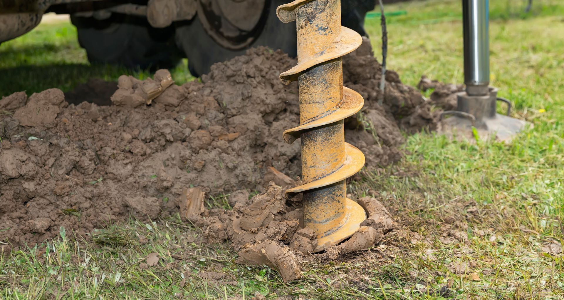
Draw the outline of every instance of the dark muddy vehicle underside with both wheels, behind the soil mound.
[[[91,62],[171,66],[178,53],[195,76],[255,46],[296,56],[296,30],[280,24],[283,0],[0,0],[0,42],[30,31],[43,12],[69,13]],[[363,36],[375,0],[347,0],[342,24]],[[18,14],[14,14],[18,12]],[[17,19],[17,20],[16,20]],[[174,38],[175,42],[171,42]]]

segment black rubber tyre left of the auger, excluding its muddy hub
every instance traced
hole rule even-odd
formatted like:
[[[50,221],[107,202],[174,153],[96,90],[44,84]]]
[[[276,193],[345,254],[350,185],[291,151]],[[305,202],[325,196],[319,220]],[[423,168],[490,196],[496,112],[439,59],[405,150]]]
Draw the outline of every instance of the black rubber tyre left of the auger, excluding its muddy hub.
[[[226,49],[218,44],[205,31],[199,16],[186,23],[179,23],[176,32],[177,45],[188,58],[188,69],[193,76],[201,76],[210,71],[212,64],[224,62],[235,56],[245,54],[251,47],[268,46],[274,50],[281,49],[292,57],[296,57],[296,24],[282,23],[276,16],[276,8],[290,2],[289,0],[271,0],[268,7],[265,25],[252,44],[240,50]]]

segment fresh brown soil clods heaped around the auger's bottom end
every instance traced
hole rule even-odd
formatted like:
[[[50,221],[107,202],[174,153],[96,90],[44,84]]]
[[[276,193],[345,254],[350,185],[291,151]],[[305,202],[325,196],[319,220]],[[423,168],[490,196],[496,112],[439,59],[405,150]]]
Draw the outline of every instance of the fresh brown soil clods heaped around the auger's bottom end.
[[[290,188],[298,184],[287,185]],[[386,208],[375,198],[360,198],[357,202],[367,212],[368,219],[348,240],[333,246],[323,254],[311,254],[318,245],[315,233],[303,228],[301,195],[292,199],[285,195],[285,188],[270,182],[266,192],[249,200],[248,193],[234,193],[229,199],[233,210],[208,211],[201,205],[203,197],[190,197],[199,193],[198,188],[184,191],[187,195],[185,206],[201,207],[195,213],[184,215],[198,227],[204,228],[205,237],[211,244],[226,240],[238,251],[236,263],[266,264],[279,270],[284,281],[301,277],[301,264],[311,255],[338,255],[368,249],[384,237],[393,222]]]

